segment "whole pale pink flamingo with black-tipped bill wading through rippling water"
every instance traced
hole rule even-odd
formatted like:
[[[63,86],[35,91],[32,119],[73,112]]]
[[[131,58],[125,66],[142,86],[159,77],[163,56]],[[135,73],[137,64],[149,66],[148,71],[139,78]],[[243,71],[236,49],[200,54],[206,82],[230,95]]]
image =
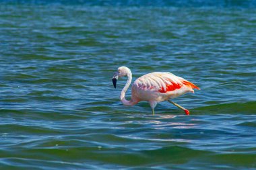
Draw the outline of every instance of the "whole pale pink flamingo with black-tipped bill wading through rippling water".
[[[152,108],[152,114],[155,114],[155,107],[161,101],[168,101],[178,108],[184,110],[186,115],[189,115],[189,110],[183,108],[181,105],[174,103],[170,99],[174,99],[180,95],[191,92],[193,89],[199,89],[193,83],[178,77],[169,72],[154,72],[148,73],[136,79],[131,87],[131,100],[125,99],[125,92],[131,84],[132,74],[128,67],[119,67],[114,74],[112,81],[113,85],[117,87],[117,79],[119,77],[127,76],[127,83],[123,87],[120,95],[123,105],[135,105],[139,101],[148,101]],[[199,89],[200,90],[200,89]]]

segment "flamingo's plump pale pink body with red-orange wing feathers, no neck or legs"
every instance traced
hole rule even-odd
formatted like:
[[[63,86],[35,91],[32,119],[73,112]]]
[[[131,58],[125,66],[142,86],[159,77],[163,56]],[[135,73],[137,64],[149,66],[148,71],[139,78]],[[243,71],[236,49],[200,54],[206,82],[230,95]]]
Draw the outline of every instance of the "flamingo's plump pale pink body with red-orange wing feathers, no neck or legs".
[[[154,72],[136,79],[131,95],[140,101],[165,101],[174,99],[197,88],[193,83],[168,72]]]

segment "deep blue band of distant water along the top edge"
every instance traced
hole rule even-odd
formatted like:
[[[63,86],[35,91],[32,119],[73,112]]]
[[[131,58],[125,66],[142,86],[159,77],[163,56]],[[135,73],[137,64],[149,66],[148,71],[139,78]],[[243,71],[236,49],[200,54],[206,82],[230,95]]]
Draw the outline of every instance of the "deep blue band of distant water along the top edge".
[[[255,7],[256,1],[255,0],[243,0],[243,1],[226,1],[226,0],[219,0],[219,1],[211,1],[211,0],[156,0],[156,1],[145,1],[145,0],[113,0],[113,1],[101,1],[101,0],[39,0],[39,1],[17,1],[17,0],[3,0],[2,3],[10,4],[25,4],[25,5],[97,5],[97,6],[171,6],[171,7]]]

